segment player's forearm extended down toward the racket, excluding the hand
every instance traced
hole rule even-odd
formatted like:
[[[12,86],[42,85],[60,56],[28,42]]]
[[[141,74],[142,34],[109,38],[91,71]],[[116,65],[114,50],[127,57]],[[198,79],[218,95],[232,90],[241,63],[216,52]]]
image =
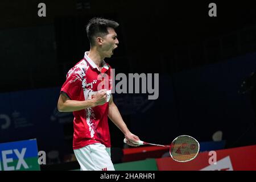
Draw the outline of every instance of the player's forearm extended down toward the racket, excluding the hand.
[[[129,129],[127,128],[125,122],[122,119],[121,114],[119,113],[119,110],[117,106],[112,103],[109,105],[109,118],[111,121],[122,131],[123,134],[130,133]]]

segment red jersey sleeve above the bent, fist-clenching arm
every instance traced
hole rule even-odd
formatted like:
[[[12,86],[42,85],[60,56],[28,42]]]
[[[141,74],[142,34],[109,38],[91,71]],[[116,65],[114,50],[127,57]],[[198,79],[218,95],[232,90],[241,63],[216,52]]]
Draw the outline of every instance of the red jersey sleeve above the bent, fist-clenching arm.
[[[82,78],[79,74],[72,73],[61,86],[61,92],[65,92],[71,100],[78,100],[82,89]]]

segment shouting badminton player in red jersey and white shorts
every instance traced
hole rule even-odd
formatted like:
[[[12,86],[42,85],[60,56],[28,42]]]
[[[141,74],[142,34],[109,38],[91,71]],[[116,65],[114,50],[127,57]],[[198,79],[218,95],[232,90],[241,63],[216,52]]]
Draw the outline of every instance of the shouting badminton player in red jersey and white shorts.
[[[81,170],[114,170],[110,158],[110,133],[108,117],[122,131],[127,144],[137,146],[139,138],[131,133],[113,102],[111,89],[98,90],[102,81],[111,83],[111,67],[105,57],[111,57],[118,47],[113,20],[93,18],[86,26],[90,50],[67,73],[67,80],[61,87],[57,108],[61,112],[73,111],[73,150]],[[108,75],[108,80],[101,75]],[[104,85],[103,85],[104,86]],[[111,86],[111,85],[110,85]],[[120,138],[122,139],[122,138]]]

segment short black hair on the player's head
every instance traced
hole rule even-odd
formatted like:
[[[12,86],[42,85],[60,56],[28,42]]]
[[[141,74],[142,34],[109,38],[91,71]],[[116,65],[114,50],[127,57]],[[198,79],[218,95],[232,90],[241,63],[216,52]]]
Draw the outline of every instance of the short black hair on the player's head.
[[[90,41],[90,45],[94,46],[95,41],[93,39],[98,36],[104,37],[109,34],[108,27],[117,28],[119,24],[113,20],[104,18],[92,18],[86,25],[87,37]]]

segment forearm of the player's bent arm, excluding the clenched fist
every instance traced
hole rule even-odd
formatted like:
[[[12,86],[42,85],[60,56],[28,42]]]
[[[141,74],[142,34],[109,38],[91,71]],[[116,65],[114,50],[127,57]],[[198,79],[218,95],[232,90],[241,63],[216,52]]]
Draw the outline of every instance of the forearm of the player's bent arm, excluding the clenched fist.
[[[89,107],[94,107],[94,106],[96,106],[96,104],[93,100],[86,100],[86,101],[67,100],[57,105],[58,110],[60,112],[79,111],[79,110],[87,109]]]

